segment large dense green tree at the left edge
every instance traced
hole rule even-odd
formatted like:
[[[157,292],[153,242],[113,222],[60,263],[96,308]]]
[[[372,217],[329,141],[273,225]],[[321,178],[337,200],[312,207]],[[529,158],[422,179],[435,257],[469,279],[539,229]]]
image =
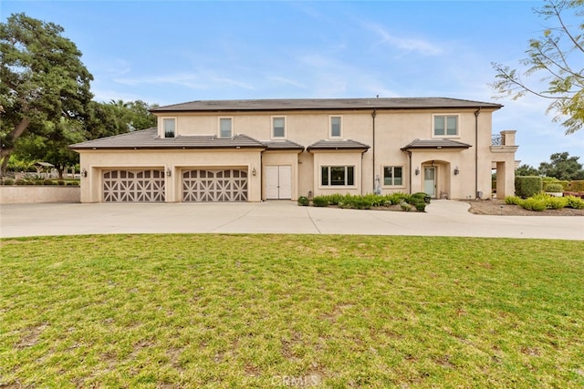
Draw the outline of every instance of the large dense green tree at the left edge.
[[[0,175],[18,138],[26,132],[47,135],[61,119],[82,118],[92,98],[93,79],[81,52],[63,28],[25,14],[0,24]]]

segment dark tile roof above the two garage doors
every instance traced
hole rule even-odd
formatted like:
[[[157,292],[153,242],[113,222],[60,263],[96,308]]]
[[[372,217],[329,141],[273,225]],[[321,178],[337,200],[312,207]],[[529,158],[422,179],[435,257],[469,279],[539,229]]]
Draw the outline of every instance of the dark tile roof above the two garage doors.
[[[143,129],[69,146],[72,149],[157,149],[157,148],[266,148],[266,144],[246,135],[217,138],[214,135],[158,138],[156,128]]]

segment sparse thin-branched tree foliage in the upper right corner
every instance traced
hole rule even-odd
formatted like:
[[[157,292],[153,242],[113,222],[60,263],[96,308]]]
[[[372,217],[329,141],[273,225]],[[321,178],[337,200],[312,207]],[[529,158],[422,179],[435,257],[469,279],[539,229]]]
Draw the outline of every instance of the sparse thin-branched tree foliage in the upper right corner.
[[[496,97],[517,99],[530,94],[548,99],[547,113],[555,112],[553,120],[561,122],[566,134],[571,134],[584,126],[584,0],[545,3],[534,11],[551,19],[553,25],[529,40],[527,58],[520,61],[525,70],[493,63],[496,80],[492,87],[499,93]],[[568,24],[568,13],[575,16],[576,26]],[[522,78],[536,74],[542,76],[538,81],[547,82],[545,90]]]

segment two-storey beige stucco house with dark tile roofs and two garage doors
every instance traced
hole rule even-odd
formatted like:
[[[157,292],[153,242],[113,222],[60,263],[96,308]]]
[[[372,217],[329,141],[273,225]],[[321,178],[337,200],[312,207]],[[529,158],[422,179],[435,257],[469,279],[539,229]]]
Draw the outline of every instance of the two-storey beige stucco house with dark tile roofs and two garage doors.
[[[514,193],[502,106],[444,97],[193,101],[157,128],[72,145],[81,201],[297,200],[327,193],[433,198]]]

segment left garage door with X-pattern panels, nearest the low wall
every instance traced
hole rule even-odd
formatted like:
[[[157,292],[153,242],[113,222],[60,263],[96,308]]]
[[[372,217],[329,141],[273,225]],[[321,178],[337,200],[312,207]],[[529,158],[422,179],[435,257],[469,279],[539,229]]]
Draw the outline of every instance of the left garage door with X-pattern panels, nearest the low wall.
[[[105,170],[103,200],[164,201],[164,170]]]

